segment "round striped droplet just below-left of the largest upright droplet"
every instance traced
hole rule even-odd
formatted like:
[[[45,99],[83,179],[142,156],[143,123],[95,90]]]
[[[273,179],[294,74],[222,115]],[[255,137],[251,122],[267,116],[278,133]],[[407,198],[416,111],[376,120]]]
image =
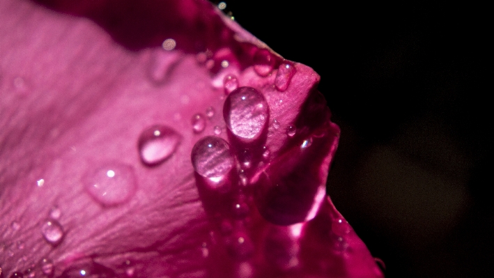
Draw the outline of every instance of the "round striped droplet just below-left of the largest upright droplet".
[[[226,175],[233,167],[229,144],[219,137],[204,137],[192,148],[192,165],[205,178]]]

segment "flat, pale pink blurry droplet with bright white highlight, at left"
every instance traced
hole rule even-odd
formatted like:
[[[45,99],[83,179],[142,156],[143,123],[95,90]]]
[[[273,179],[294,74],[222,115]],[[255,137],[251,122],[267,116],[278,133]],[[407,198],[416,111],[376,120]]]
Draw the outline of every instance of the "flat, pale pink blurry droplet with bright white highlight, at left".
[[[137,189],[134,169],[127,164],[111,163],[86,173],[86,191],[103,206],[127,202]]]

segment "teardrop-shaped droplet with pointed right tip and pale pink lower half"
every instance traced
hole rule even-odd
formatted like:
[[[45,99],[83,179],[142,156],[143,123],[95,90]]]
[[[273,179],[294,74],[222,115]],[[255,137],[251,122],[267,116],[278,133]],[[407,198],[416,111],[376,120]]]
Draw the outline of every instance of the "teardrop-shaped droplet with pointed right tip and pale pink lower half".
[[[139,136],[139,155],[146,165],[157,165],[175,153],[182,137],[166,125],[153,125]]]

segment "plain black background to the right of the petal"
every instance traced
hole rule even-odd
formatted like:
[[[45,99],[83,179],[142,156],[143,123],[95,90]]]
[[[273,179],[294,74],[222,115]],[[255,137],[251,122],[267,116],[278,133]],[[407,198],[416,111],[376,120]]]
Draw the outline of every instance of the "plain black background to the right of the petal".
[[[337,2],[226,1],[225,13],[321,75],[341,127],[328,192],[387,277],[490,277],[489,9]]]

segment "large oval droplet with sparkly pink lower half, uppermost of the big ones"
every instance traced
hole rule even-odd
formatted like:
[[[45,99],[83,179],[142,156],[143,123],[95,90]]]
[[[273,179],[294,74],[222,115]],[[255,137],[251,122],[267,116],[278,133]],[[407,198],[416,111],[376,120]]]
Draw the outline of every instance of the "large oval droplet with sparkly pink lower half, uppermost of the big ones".
[[[223,116],[236,137],[252,141],[261,135],[268,122],[268,102],[255,88],[240,87],[226,98]]]

